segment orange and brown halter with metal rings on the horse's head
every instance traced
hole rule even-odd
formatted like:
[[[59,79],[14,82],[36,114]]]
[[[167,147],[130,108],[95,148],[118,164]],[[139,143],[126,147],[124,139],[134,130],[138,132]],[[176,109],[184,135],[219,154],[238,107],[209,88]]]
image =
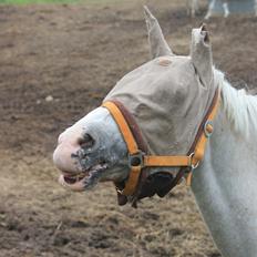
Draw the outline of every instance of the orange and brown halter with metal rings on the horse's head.
[[[127,165],[130,175],[125,182],[125,187],[119,191],[120,194],[132,196],[138,187],[142,169],[146,167],[181,167],[176,177],[172,182],[175,187],[181,178],[187,173],[186,184],[192,183],[192,173],[204,158],[207,140],[213,134],[213,121],[217,114],[219,104],[219,90],[217,89],[210,106],[208,107],[187,155],[147,155],[147,147],[143,141],[140,127],[127,109],[119,101],[107,101],[102,104],[112,114],[120,132],[126,143],[128,155]]]

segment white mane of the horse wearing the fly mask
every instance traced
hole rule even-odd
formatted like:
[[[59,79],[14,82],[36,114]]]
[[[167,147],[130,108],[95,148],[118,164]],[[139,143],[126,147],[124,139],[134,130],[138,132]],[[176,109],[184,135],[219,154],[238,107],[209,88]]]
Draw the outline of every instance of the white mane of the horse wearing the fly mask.
[[[222,92],[222,105],[228,121],[237,133],[250,136],[250,131],[257,131],[257,90],[237,90],[225,79],[222,71],[214,69],[214,80]]]

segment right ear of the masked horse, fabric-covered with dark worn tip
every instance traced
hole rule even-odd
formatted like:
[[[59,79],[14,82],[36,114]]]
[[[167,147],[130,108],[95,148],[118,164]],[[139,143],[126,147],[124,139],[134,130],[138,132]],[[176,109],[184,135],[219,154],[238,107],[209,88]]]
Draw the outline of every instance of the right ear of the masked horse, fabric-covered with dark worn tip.
[[[206,25],[192,31],[191,58],[204,86],[213,80],[213,54]]]

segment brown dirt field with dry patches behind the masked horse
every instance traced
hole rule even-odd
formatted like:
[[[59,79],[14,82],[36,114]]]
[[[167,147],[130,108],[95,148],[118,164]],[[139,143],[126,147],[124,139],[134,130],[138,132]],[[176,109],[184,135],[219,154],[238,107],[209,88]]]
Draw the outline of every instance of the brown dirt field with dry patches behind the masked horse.
[[[187,54],[203,16],[187,18],[178,0],[147,3]],[[257,84],[257,19],[208,23],[216,66],[236,86]],[[219,256],[186,187],[132,209],[111,184],[73,194],[56,183],[58,134],[147,60],[142,1],[0,6],[0,256]]]

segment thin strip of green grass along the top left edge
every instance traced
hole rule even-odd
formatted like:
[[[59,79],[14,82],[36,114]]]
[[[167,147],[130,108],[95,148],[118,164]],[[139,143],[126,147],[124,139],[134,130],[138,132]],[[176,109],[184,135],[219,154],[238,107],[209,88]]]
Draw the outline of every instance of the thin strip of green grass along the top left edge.
[[[0,4],[32,4],[32,3],[109,3],[113,0],[0,0]]]

